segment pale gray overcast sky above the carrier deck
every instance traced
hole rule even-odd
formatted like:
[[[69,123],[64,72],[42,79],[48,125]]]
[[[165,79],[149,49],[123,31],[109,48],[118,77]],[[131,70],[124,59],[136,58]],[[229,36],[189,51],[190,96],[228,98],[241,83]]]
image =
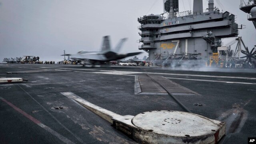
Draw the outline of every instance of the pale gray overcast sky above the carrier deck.
[[[208,1],[203,1],[206,9]],[[220,3],[216,7],[235,14],[236,22],[246,25],[239,36],[252,49],[256,30],[239,10],[240,0]],[[179,9],[192,10],[193,0],[179,0]],[[112,47],[120,38],[128,38],[121,52],[141,52],[137,18],[162,13],[162,0],[0,0],[0,61],[24,55],[60,61],[63,50],[68,54],[100,50],[106,35],[110,35]],[[233,39],[225,39],[224,44]]]

